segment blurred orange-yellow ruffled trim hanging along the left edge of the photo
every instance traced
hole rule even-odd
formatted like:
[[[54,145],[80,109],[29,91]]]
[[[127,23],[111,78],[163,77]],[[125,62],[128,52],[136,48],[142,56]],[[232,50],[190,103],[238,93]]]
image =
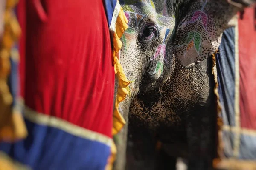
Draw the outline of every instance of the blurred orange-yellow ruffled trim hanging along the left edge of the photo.
[[[10,74],[11,49],[21,34],[13,8],[18,0],[7,0],[4,32],[0,46],[0,141],[13,142],[27,136],[23,116],[12,109],[12,95],[7,85]]]

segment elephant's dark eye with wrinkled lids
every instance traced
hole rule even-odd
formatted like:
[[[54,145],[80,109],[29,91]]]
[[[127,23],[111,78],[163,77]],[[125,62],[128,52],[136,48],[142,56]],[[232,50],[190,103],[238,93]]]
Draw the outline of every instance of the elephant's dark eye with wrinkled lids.
[[[144,40],[151,40],[157,31],[157,26],[154,23],[147,23],[143,26],[140,32],[140,37]]]

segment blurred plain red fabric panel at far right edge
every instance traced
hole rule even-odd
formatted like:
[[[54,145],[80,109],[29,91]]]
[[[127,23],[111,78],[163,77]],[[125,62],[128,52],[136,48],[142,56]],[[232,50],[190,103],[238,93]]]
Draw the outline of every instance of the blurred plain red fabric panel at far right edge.
[[[239,19],[239,70],[241,127],[256,129],[256,30],[255,8]]]

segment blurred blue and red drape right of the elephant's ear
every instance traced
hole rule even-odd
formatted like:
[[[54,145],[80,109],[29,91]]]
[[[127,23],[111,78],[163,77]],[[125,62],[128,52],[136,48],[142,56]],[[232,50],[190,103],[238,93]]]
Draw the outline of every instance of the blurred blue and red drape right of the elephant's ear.
[[[256,8],[245,9],[227,29],[216,54],[218,94],[218,156],[215,167],[256,169]]]

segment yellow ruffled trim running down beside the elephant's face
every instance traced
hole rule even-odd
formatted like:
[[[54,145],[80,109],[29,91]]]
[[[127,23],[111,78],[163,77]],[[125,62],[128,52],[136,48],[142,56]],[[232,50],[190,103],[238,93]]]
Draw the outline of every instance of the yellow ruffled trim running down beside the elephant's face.
[[[122,47],[122,41],[120,40],[120,38],[122,37],[122,34],[125,32],[125,30],[128,28],[127,23],[128,23],[128,20],[125,17],[125,13],[123,12],[122,7],[120,7],[120,11],[116,19],[116,31],[114,32],[114,35],[113,35],[113,50],[114,50],[113,61],[115,66],[115,73],[119,78],[116,103],[115,103],[114,113],[113,113],[113,128],[112,128],[113,135],[116,135],[125,125],[125,119],[120,114],[118,110],[118,106],[119,106],[119,103],[125,99],[128,93],[126,87],[130,84],[130,82],[126,78],[122,65],[119,62],[119,51]]]

